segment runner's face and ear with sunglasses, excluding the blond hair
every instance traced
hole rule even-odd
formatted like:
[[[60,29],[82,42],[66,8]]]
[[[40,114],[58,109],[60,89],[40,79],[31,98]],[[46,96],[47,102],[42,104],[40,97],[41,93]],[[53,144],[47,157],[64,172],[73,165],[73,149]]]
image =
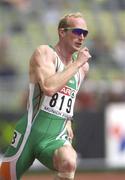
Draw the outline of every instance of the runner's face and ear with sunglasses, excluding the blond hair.
[[[81,48],[88,34],[88,29],[85,20],[82,18],[69,18],[69,22],[68,28],[63,29],[63,40],[66,47],[75,52]]]

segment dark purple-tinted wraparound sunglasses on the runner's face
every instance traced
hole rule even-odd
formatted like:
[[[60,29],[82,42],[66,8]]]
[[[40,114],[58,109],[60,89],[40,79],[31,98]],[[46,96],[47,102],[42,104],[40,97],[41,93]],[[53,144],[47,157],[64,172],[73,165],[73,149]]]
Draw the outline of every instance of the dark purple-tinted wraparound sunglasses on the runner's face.
[[[84,37],[88,35],[88,31],[80,28],[64,28],[65,31],[71,30],[73,34],[81,36],[83,34]]]

